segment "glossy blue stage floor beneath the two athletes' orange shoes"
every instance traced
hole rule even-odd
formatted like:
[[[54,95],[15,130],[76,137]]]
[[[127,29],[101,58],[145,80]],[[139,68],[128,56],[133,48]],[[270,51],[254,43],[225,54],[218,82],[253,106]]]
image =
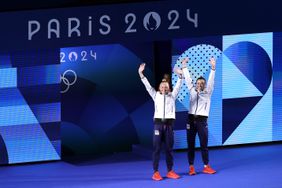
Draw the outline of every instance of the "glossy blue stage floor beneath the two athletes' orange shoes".
[[[214,148],[210,161],[218,172],[202,174],[200,151],[196,153],[196,176],[188,176],[186,152],[175,152],[175,171],[181,179],[151,180],[149,157],[119,153],[80,162],[51,162],[0,166],[0,187],[64,188],[282,188],[282,143]],[[164,156],[160,172],[166,174]]]

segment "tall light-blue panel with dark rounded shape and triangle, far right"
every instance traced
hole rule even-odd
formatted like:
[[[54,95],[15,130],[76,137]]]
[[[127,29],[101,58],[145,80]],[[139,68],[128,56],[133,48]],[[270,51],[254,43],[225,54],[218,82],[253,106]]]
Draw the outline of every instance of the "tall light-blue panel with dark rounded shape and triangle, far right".
[[[223,37],[223,54],[227,56],[223,62],[223,100],[245,101],[242,110],[234,106],[223,109],[223,135],[228,136],[224,145],[272,141],[272,40],[272,33]],[[248,100],[259,96],[262,98],[257,103]],[[242,113],[247,108],[251,110]],[[231,117],[242,121],[231,127]]]

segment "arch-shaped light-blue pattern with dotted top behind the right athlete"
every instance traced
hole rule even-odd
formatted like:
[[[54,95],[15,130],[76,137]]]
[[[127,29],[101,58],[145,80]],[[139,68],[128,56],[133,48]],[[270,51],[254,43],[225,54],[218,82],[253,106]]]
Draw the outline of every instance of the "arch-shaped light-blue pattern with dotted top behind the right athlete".
[[[222,143],[222,90],[221,90],[221,71],[222,71],[222,52],[219,48],[208,45],[208,44],[197,44],[188,47],[181,55],[172,56],[172,69],[181,68],[181,61],[183,58],[189,58],[187,67],[190,72],[193,83],[196,82],[197,78],[203,76],[208,80],[210,74],[210,64],[209,60],[214,57],[217,61],[216,76],[215,76],[215,87],[212,94],[212,106],[211,106],[211,116],[208,119],[209,126],[209,146],[217,146]],[[177,81],[177,75],[172,73],[172,85],[174,86]],[[180,92],[176,100],[176,111],[177,113],[185,113],[185,117],[181,120],[177,119],[176,122],[178,127],[175,130],[175,144],[174,149],[187,148],[187,135],[186,135],[186,119],[189,111],[189,98],[190,93],[183,82]],[[180,116],[177,116],[177,118]],[[182,118],[182,117],[181,117]],[[199,139],[196,139],[196,146],[200,145]]]

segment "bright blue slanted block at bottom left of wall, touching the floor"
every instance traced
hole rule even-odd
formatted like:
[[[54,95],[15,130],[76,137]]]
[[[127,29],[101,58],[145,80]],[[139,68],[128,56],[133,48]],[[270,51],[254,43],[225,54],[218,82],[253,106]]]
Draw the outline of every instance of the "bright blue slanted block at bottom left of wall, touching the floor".
[[[0,134],[5,141],[9,164],[60,159],[38,123],[0,127]]]

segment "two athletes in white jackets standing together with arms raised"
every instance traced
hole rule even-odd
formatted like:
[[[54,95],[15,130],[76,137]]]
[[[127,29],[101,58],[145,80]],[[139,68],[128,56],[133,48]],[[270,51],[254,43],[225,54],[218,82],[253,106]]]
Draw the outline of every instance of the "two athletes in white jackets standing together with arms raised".
[[[195,158],[195,140],[198,133],[200,139],[200,146],[202,152],[202,160],[204,163],[203,173],[214,174],[209,165],[209,153],[208,153],[208,125],[207,119],[210,111],[211,95],[214,88],[215,78],[215,66],[216,62],[214,58],[210,59],[211,71],[206,83],[205,78],[199,77],[196,80],[196,85],[193,85],[193,81],[189,74],[187,67],[188,58],[182,60],[182,68],[175,69],[175,73],[178,75],[178,80],[175,87],[171,91],[170,81],[166,77],[159,85],[159,90],[156,91],[148,82],[144,76],[145,64],[141,64],[138,69],[141,81],[146,87],[146,90],[152,97],[155,106],[154,112],[154,136],[153,136],[153,176],[152,179],[159,181],[162,180],[162,176],[159,173],[159,160],[161,146],[165,144],[166,164],[167,164],[167,178],[178,179],[180,176],[173,171],[173,144],[174,133],[173,124],[175,120],[175,100],[179,93],[184,79],[188,90],[190,92],[190,110],[188,113],[188,122],[186,122],[187,130],[187,144],[188,144],[188,161],[189,161],[189,175],[195,175],[194,168]],[[183,123],[184,124],[184,123]]]

